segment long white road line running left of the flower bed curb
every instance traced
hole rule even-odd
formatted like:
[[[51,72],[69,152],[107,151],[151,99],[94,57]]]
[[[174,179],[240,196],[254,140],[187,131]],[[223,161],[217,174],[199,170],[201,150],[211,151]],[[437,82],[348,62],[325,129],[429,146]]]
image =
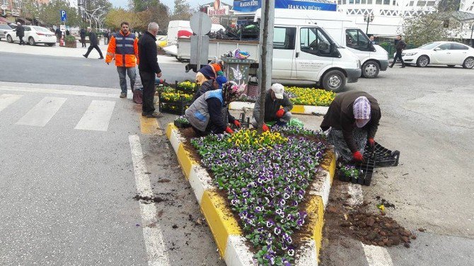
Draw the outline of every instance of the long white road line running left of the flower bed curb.
[[[138,135],[129,136],[130,149],[132,150],[132,161],[135,173],[137,192],[143,197],[152,197],[150,178],[147,174],[143,151],[141,151],[140,138]],[[148,253],[149,266],[170,265],[168,251],[163,242],[160,224],[156,219],[156,206],[154,203],[144,204],[140,202],[141,223],[143,225],[143,236],[146,252]]]

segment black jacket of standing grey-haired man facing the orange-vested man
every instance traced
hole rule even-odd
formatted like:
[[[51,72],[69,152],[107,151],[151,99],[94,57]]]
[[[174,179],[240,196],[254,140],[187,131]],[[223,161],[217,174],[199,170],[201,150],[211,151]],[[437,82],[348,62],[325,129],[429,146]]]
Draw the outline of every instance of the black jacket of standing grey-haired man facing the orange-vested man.
[[[156,54],[156,37],[146,31],[138,41],[138,58],[140,59],[138,69],[147,73],[161,73]]]

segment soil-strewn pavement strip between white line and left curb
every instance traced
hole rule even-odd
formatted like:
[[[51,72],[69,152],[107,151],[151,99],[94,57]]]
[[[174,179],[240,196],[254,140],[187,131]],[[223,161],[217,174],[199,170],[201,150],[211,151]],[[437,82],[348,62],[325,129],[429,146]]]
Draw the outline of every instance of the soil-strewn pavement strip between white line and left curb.
[[[170,265],[225,265],[166,135],[140,139]]]

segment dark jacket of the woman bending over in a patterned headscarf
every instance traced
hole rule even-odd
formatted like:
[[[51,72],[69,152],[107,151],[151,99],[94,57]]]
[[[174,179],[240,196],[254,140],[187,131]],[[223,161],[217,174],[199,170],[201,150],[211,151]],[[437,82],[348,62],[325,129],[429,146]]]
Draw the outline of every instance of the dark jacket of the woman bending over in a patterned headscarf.
[[[369,138],[374,138],[378,129],[378,122],[381,118],[381,112],[377,100],[364,91],[347,91],[337,94],[333,103],[329,105],[328,112],[320,126],[323,130],[328,130],[329,127],[342,130],[346,144],[352,152],[357,151],[354,137],[352,137],[352,130],[356,127],[354,125],[354,100],[360,96],[365,96],[369,100],[371,112],[370,121],[362,128],[367,130]]]

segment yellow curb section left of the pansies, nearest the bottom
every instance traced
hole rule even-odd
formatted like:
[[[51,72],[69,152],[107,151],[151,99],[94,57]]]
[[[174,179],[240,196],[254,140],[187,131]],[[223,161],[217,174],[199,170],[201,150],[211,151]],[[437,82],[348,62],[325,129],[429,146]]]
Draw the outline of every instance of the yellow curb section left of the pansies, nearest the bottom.
[[[216,240],[221,257],[224,258],[227,239],[231,235],[242,235],[238,222],[233,218],[231,209],[226,207],[226,198],[217,192],[205,191],[202,195],[201,211],[206,217],[207,224]]]

